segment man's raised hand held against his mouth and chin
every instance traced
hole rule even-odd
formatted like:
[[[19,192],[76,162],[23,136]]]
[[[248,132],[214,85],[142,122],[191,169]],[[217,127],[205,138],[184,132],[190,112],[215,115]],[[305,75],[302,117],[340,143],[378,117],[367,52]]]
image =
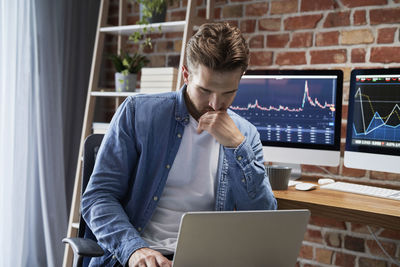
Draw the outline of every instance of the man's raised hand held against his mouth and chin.
[[[209,111],[199,119],[197,132],[209,132],[221,145],[235,148],[240,145],[244,136],[236,127],[225,110]]]

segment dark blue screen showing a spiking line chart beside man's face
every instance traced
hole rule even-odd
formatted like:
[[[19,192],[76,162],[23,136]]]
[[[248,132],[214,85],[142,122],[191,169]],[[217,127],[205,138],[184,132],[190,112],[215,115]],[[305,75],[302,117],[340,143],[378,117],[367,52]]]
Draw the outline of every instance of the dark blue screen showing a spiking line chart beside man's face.
[[[245,75],[231,109],[253,123],[262,141],[335,142],[337,76]]]

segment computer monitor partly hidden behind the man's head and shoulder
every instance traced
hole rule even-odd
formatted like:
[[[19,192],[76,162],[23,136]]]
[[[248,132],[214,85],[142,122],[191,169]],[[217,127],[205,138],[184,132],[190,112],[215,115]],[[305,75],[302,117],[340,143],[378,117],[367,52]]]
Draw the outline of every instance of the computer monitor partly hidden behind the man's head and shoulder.
[[[231,109],[257,127],[268,162],[337,166],[341,70],[253,70]]]

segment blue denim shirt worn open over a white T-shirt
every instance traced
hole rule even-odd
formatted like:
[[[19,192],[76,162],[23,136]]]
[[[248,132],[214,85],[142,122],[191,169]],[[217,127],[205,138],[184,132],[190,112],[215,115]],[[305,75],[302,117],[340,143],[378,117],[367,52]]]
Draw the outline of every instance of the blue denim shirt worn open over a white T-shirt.
[[[178,92],[128,97],[115,113],[82,196],[82,215],[105,249],[91,266],[127,266],[148,247],[140,233],[163,192],[189,113]],[[228,110],[245,136],[237,148],[220,146],[215,210],[276,209],[256,128]],[[189,166],[190,167],[190,166]]]

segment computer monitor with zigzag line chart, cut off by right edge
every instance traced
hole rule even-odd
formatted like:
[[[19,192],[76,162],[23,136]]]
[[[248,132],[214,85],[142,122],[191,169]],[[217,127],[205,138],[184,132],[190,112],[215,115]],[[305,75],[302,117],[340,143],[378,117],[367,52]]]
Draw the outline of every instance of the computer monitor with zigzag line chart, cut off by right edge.
[[[351,72],[344,165],[400,173],[400,69]]]

